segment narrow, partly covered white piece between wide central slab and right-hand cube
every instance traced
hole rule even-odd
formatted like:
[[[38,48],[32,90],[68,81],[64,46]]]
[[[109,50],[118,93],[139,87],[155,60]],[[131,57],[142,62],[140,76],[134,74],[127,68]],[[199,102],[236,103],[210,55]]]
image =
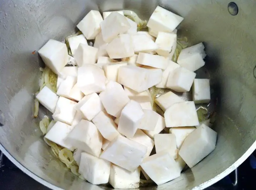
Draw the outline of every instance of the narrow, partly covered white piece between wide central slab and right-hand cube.
[[[172,77],[173,71],[179,68],[180,65],[169,60],[166,69],[163,71],[162,81],[156,85],[157,88],[167,88],[168,77]],[[171,75],[171,76],[170,76]]]

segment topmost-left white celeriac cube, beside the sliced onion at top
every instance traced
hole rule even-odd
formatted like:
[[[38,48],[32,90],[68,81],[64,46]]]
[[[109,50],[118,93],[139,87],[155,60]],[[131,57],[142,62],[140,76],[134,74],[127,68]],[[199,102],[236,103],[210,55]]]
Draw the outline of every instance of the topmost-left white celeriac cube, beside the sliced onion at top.
[[[81,20],[77,27],[82,31],[86,39],[95,39],[97,34],[100,32],[100,23],[103,21],[99,11],[91,10]]]

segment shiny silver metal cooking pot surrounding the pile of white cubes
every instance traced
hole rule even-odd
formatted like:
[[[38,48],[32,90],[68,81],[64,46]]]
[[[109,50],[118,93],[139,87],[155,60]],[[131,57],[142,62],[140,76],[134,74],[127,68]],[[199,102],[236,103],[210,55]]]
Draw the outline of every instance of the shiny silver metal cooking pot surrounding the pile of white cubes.
[[[182,36],[205,42],[206,68],[218,94],[213,128],[217,146],[180,178],[147,189],[204,189],[240,165],[256,148],[256,4],[238,1],[231,16],[227,0],[4,0],[0,1],[0,149],[21,170],[52,189],[103,189],[74,176],[58,162],[32,117],[39,88],[38,50],[48,39],[63,40],[91,9],[135,10],[149,18],[157,5],[185,17]],[[104,189],[109,189],[105,187]],[[145,188],[141,188],[145,189]]]

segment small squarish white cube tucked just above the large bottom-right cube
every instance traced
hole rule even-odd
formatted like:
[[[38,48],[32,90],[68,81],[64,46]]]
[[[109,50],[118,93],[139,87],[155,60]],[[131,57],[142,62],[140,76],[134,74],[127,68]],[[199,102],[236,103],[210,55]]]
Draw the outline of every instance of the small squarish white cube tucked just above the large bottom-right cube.
[[[174,159],[177,158],[176,136],[174,134],[155,134],[156,153],[168,152]]]

